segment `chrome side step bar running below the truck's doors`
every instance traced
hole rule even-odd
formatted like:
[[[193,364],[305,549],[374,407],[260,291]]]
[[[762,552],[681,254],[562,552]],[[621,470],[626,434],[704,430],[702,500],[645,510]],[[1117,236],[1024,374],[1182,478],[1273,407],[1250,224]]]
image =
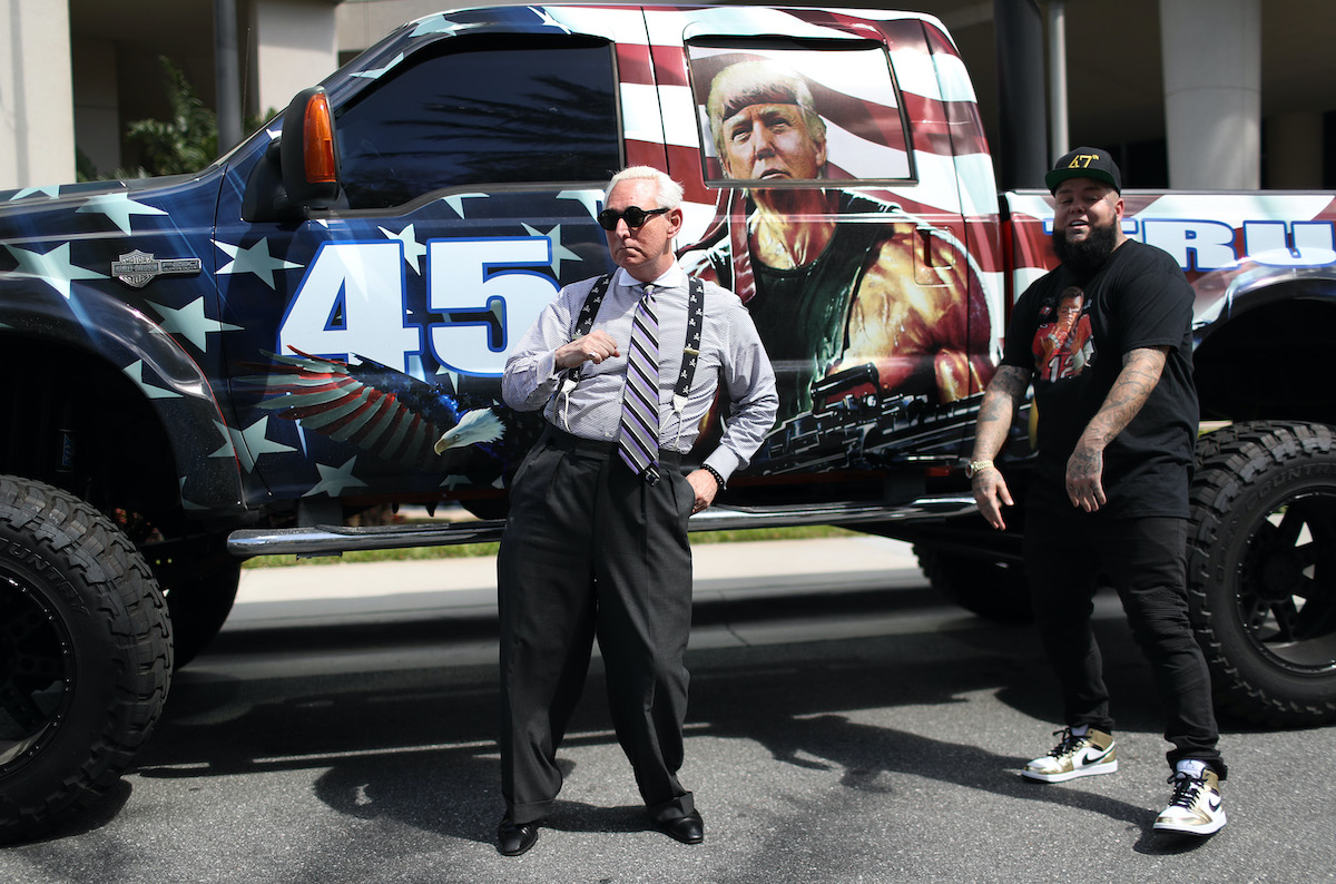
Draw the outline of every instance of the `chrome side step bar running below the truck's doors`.
[[[794,525],[856,525],[941,519],[974,511],[969,495],[922,497],[900,505],[823,503],[811,506],[716,506],[691,517],[692,531],[720,531],[749,527],[790,527]],[[409,546],[450,546],[488,543],[501,539],[505,519],[448,522],[442,525],[377,525],[347,527],[311,525],[307,527],[240,529],[227,537],[232,556],[335,556],[359,549],[403,549]]]

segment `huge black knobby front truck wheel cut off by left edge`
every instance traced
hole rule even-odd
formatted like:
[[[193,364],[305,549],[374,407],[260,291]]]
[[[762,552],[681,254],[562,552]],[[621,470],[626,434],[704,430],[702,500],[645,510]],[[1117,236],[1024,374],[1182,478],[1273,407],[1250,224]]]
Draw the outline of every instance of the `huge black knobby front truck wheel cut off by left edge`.
[[[167,609],[126,535],[49,485],[0,475],[0,841],[112,787],[171,681]]]

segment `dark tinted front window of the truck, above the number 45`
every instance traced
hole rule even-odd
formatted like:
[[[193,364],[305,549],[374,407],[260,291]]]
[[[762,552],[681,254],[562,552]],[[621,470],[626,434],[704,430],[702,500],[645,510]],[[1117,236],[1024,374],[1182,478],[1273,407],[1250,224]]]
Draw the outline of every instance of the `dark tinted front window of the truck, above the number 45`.
[[[607,43],[508,36],[437,45],[338,111],[350,208],[450,187],[604,182],[621,166]]]

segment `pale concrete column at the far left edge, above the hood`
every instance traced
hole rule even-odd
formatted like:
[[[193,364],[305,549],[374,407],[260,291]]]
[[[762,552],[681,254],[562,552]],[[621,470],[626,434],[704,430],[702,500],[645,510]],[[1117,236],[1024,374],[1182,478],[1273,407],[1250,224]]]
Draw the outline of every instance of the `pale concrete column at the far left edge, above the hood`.
[[[69,5],[0,0],[0,190],[75,180]]]

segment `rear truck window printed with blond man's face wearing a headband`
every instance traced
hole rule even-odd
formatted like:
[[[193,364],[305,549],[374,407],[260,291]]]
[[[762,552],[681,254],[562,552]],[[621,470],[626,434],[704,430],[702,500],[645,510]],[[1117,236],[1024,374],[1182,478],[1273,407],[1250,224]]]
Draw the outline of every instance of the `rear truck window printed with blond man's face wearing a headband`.
[[[708,183],[914,178],[882,44],[715,39],[687,49]]]

